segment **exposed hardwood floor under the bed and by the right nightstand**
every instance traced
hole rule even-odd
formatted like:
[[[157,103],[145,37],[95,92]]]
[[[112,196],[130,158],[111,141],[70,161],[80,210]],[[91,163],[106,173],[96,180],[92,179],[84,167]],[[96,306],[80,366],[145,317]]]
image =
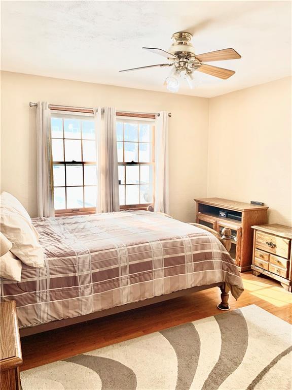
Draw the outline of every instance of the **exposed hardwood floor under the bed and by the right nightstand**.
[[[230,296],[231,310],[258,305],[292,323],[292,294],[272,279],[241,274],[245,291],[236,301]],[[170,328],[222,313],[220,289],[215,287],[190,296],[176,298],[152,306],[115,314],[109,317],[27,336],[21,339],[23,365],[21,370],[66,359],[134,337]]]

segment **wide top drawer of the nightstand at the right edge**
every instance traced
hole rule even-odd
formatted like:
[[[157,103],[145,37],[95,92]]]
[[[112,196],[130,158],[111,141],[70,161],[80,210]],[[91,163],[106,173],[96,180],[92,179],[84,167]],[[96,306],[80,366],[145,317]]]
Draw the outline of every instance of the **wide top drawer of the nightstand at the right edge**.
[[[263,232],[257,232],[255,235],[255,247],[257,249],[264,249],[281,257],[289,257],[289,245],[290,240],[286,238],[276,237]]]

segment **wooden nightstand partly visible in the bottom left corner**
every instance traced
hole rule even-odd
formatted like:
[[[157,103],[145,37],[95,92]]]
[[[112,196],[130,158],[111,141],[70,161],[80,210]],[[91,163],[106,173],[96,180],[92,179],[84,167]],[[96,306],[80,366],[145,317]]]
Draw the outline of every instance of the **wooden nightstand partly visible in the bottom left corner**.
[[[15,301],[0,303],[0,342],[1,390],[20,390],[22,355]]]

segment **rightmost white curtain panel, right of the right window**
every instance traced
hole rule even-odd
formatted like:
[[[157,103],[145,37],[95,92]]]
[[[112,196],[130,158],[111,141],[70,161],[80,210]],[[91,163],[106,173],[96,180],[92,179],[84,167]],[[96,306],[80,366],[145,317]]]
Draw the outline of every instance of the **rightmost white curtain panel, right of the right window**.
[[[155,201],[154,211],[169,213],[168,112],[161,111],[155,125]]]

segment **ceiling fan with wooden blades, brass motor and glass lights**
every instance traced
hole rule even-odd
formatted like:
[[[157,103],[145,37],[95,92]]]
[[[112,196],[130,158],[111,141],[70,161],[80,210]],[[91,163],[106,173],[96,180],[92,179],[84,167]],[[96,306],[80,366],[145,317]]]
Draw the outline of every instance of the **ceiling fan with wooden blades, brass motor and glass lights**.
[[[175,32],[172,35],[173,43],[168,51],[143,47],[143,49],[149,50],[153,53],[160,54],[166,57],[170,63],[160,63],[157,65],[150,65],[147,67],[139,67],[132,69],[125,69],[120,72],[130,72],[139,69],[155,68],[155,67],[173,67],[172,73],[165,79],[164,85],[172,92],[177,92],[179,89],[179,78],[185,79],[190,88],[193,87],[192,80],[194,78],[195,71],[206,73],[211,76],[219,77],[220,79],[228,79],[234,75],[234,71],[229,69],[218,68],[208,65],[204,62],[210,61],[222,61],[226,59],[241,58],[234,49],[224,49],[211,51],[209,53],[195,54],[195,49],[191,44],[192,34],[190,32],[180,31]]]

